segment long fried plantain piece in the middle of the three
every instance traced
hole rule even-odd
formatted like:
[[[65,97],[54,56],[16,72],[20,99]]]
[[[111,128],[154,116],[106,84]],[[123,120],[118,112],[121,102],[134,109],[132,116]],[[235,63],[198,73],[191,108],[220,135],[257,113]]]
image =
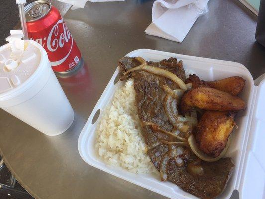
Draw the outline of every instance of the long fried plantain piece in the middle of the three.
[[[246,104],[241,98],[229,93],[210,87],[199,87],[184,93],[180,107],[185,114],[191,107],[203,110],[237,111],[245,109]]]

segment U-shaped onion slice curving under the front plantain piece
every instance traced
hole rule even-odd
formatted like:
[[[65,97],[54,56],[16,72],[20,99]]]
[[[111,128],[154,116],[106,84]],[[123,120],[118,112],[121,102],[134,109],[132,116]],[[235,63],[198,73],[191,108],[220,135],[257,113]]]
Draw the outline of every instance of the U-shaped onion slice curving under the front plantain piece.
[[[204,160],[206,162],[214,162],[214,161],[217,161],[217,160],[221,159],[226,154],[227,149],[229,148],[229,145],[230,145],[230,137],[228,138],[228,141],[226,143],[226,147],[224,148],[222,153],[219,156],[215,157],[215,158],[212,158],[211,156],[208,156],[207,154],[205,154],[201,150],[199,150],[193,135],[189,136],[188,143],[189,143],[189,146],[190,146],[191,150],[193,151],[193,153],[196,156],[198,156],[198,158],[200,158],[200,159],[202,159],[202,160]]]

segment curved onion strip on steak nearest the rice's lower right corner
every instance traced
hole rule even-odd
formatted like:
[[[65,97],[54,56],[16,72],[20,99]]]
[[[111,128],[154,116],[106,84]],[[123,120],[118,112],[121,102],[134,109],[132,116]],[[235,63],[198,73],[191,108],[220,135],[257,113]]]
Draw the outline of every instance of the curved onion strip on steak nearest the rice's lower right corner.
[[[179,148],[179,147],[178,147]],[[169,160],[171,158],[175,158],[179,155],[181,155],[182,150],[178,150],[178,148],[173,149],[171,151],[168,151],[165,153],[165,155],[162,157],[160,164],[159,164],[159,171],[160,171],[160,176],[162,181],[167,181],[168,180],[168,164]]]

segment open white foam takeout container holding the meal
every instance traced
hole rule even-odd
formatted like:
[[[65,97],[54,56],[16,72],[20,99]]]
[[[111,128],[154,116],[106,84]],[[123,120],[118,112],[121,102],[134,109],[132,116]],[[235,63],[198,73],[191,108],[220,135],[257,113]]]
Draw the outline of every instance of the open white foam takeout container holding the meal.
[[[160,61],[170,57],[183,60],[183,66],[188,77],[189,71],[196,73],[202,80],[212,81],[229,76],[241,76],[246,85],[240,97],[246,101],[247,109],[236,117],[238,129],[233,132],[231,145],[226,154],[235,163],[234,173],[225,189],[218,197],[229,199],[233,190],[239,191],[240,199],[265,199],[265,75],[257,79],[254,85],[250,72],[242,64],[236,62],[193,57],[149,49],[139,49],[126,56],[141,56],[148,61]],[[92,120],[98,110],[103,114],[104,108],[111,101],[117,87],[125,81],[114,84],[119,73],[116,69],[103,94],[95,105],[88,121],[83,128],[79,140],[78,150],[81,157],[89,164],[114,176],[164,195],[172,199],[197,199],[197,197],[183,191],[175,184],[162,182],[155,174],[134,174],[122,168],[105,164],[95,150],[95,129],[98,122]],[[99,119],[97,121],[100,120]]]

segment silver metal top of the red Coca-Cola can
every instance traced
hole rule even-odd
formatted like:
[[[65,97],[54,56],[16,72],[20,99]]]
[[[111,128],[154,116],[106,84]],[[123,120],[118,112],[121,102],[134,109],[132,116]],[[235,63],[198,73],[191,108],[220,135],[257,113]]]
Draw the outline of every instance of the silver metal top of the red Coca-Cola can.
[[[26,14],[26,21],[33,22],[41,19],[51,10],[51,3],[47,0],[37,0],[28,4],[24,10]]]

